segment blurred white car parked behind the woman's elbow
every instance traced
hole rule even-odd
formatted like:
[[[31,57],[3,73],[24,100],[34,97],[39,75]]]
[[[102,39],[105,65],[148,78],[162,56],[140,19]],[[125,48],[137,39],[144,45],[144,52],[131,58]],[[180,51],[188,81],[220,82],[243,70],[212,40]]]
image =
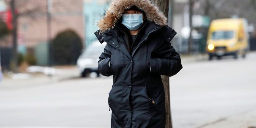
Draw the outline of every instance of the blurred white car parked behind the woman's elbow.
[[[91,43],[79,56],[77,59],[77,67],[79,68],[80,74],[82,77],[87,76],[91,72],[97,73],[97,76],[100,76],[98,71],[98,61],[99,56],[104,52],[104,47],[106,42],[102,44],[97,40]]]

